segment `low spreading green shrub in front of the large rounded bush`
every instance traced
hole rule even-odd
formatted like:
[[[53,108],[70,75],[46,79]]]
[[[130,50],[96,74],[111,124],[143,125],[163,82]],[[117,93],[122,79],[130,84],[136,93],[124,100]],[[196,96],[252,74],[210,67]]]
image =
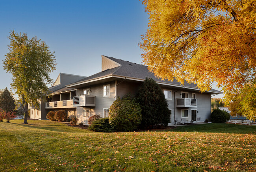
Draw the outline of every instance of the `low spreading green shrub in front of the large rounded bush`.
[[[91,131],[106,132],[106,133],[110,133],[114,131],[114,129],[111,127],[111,125],[108,122],[108,118],[96,119],[88,127],[88,129]]]

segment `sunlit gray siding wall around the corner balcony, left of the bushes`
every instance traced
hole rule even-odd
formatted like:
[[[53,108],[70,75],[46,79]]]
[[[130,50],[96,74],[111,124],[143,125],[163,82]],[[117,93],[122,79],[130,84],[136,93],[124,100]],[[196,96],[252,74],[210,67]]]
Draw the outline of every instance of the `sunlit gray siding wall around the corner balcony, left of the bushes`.
[[[110,85],[110,96],[109,97],[103,97],[103,85]],[[91,96],[96,96],[95,98],[95,104],[96,107],[77,107],[77,118],[78,122],[83,122],[84,124],[87,124],[88,118],[83,117],[83,110],[84,109],[90,109],[90,116],[93,115],[100,115],[103,117],[103,108],[109,108],[112,104],[112,102],[115,101],[115,82],[111,83],[104,83],[102,85],[94,85],[91,87],[81,88],[77,89],[77,95],[83,94],[83,89],[91,89]]]

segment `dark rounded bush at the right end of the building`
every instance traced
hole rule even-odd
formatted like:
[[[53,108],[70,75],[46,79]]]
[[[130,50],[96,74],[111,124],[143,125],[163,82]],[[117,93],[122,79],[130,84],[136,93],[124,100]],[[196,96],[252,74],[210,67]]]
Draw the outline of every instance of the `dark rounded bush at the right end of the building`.
[[[213,123],[226,123],[230,119],[230,115],[221,109],[213,109],[211,113],[211,122]]]

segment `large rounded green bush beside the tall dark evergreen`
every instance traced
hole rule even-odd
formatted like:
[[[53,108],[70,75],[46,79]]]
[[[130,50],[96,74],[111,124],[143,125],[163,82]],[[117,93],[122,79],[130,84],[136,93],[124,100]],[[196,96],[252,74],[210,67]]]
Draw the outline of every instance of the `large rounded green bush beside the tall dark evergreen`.
[[[134,131],[141,119],[141,106],[131,96],[117,98],[109,108],[109,124],[115,131]]]

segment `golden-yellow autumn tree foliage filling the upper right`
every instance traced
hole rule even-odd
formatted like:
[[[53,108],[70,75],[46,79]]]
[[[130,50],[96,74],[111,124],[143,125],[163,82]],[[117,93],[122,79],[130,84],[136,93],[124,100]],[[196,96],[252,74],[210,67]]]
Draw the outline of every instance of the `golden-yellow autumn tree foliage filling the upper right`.
[[[139,47],[157,77],[213,82],[231,100],[256,76],[254,0],[143,0],[148,30]]]

